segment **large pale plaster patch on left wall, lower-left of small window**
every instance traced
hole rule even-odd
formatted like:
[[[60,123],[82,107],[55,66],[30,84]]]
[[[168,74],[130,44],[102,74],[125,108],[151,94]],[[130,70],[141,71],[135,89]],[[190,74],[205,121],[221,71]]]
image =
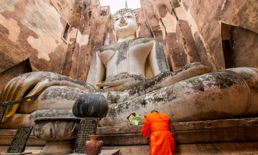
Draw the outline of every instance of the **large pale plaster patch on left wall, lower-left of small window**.
[[[49,54],[58,47],[58,44],[55,43],[55,38],[39,38],[35,39],[32,36],[29,36],[27,39],[28,43],[39,51],[38,58],[50,60]]]

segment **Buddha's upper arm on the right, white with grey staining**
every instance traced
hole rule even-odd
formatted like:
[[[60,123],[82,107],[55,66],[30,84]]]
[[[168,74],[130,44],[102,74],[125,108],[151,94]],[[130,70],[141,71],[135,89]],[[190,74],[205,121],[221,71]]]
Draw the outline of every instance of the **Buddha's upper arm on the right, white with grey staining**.
[[[162,43],[159,39],[153,40],[153,47],[149,53],[148,60],[153,76],[169,71],[167,58],[165,56]]]

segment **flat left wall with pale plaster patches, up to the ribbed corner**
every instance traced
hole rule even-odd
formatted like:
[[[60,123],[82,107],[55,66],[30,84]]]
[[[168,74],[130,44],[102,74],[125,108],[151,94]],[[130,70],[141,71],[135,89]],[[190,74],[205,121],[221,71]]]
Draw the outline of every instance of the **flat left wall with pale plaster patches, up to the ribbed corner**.
[[[74,7],[73,0],[0,1],[0,72],[30,58],[33,71],[61,73],[61,37]]]

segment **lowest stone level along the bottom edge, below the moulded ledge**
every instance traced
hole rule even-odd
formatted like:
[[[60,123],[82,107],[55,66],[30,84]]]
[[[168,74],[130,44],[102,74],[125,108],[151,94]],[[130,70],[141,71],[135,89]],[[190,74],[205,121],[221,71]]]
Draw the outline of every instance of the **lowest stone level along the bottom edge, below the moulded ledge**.
[[[0,146],[0,153],[4,154],[8,146]],[[26,146],[25,152],[38,155],[43,147]],[[141,146],[103,146],[103,150],[120,150],[120,155],[147,155],[149,145]],[[102,151],[101,155],[111,155],[110,151]],[[113,151],[114,152],[114,151]],[[178,144],[174,155],[258,155],[258,141]]]

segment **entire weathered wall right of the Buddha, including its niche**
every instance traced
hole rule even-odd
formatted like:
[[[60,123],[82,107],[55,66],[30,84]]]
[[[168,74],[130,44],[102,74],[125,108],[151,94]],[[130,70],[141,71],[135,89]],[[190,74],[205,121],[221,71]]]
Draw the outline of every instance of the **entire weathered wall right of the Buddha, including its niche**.
[[[231,67],[257,68],[257,8],[254,0],[141,0],[145,22],[152,36],[164,41],[171,70],[192,62],[225,69],[228,58],[222,33],[231,36]],[[222,23],[235,27],[222,32]]]

